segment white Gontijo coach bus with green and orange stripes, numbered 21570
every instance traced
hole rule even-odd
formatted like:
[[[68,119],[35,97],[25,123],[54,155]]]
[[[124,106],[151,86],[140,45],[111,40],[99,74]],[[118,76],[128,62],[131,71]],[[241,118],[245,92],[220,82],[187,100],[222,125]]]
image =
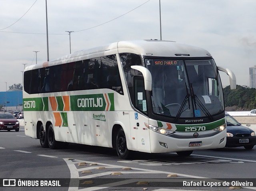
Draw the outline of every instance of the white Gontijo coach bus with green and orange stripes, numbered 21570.
[[[24,71],[25,134],[43,148],[67,143],[132,151],[222,148],[226,122],[218,70],[204,49],[173,41],[119,41]]]

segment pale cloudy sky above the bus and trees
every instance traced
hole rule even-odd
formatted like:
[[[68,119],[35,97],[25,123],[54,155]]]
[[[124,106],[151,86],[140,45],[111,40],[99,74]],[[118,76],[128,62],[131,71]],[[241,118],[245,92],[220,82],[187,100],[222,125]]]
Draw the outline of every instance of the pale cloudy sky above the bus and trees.
[[[6,91],[22,84],[24,66],[47,61],[46,0],[0,5],[0,91]],[[206,49],[217,66],[233,71],[238,85],[249,86],[249,67],[256,65],[255,8],[256,0],[48,0],[49,60],[69,54],[70,44],[75,52],[160,39],[161,13],[162,40]],[[70,40],[66,31],[74,31]],[[220,73],[222,85],[229,85]]]

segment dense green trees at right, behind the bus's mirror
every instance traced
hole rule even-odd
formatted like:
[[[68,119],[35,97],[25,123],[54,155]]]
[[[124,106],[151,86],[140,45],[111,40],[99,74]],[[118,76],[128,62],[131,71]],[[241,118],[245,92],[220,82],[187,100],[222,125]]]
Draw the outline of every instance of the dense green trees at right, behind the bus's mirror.
[[[223,89],[225,106],[237,106],[245,110],[256,108],[256,89],[236,85],[236,90],[230,90],[230,86]]]

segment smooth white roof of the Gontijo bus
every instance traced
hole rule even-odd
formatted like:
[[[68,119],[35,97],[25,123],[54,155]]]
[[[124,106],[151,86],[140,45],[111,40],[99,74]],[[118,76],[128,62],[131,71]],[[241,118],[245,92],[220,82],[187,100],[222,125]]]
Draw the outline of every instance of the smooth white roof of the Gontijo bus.
[[[58,59],[54,59],[43,64],[31,65],[26,70],[47,67],[48,65],[57,65],[62,63],[70,63],[74,61],[111,55],[116,53],[135,53],[138,55],[147,55],[153,57],[211,57],[210,53],[205,49],[177,43],[175,41],[165,40],[134,40],[134,41],[118,41],[91,49],[76,51],[72,54],[65,55]]]

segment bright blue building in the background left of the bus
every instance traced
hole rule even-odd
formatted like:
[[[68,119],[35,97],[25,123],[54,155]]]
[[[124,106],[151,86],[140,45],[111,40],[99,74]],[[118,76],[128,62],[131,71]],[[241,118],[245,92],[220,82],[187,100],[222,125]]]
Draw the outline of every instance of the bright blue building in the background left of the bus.
[[[22,110],[22,90],[9,89],[6,92],[0,92],[0,104],[5,110]]]

